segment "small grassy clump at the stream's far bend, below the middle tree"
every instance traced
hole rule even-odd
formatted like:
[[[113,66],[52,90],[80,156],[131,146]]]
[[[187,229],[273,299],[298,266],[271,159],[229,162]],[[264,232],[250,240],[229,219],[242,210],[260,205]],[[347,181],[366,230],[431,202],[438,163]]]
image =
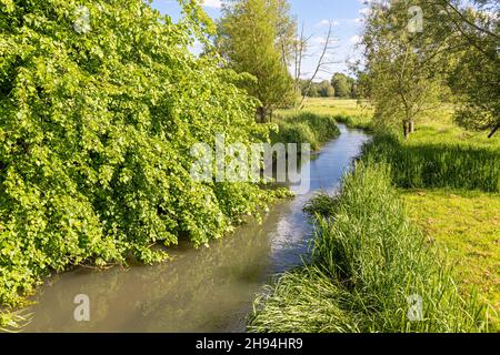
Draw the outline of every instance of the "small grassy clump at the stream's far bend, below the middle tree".
[[[322,144],[340,135],[331,115],[298,112],[278,120],[279,130],[271,133],[272,143],[310,143],[317,151]]]

